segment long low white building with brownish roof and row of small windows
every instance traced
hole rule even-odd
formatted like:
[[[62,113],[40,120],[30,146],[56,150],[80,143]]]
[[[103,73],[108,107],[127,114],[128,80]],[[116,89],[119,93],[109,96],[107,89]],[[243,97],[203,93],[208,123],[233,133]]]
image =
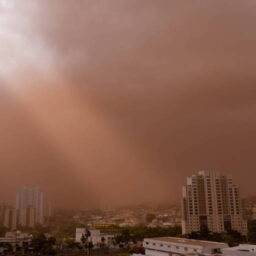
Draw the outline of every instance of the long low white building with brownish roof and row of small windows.
[[[225,243],[183,239],[177,237],[146,238],[143,242],[146,256],[213,255],[228,245]]]

